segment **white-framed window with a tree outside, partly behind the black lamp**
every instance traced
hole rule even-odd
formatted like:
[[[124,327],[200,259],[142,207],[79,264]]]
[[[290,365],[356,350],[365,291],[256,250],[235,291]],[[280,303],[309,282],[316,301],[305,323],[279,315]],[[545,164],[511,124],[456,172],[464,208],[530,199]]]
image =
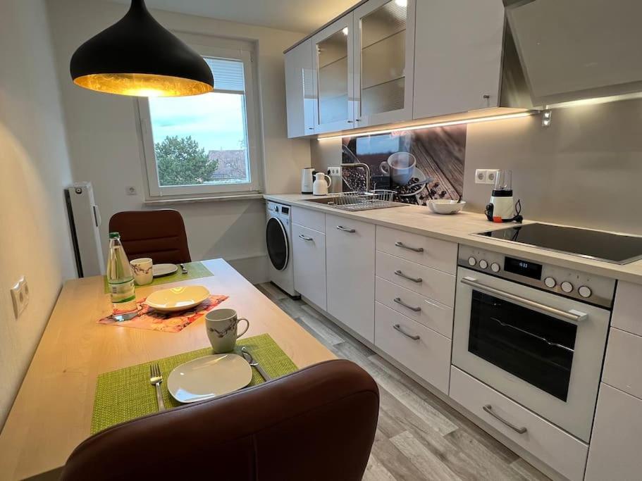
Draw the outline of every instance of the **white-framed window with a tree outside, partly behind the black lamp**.
[[[149,195],[258,192],[251,46],[195,49],[214,74],[214,92],[138,102]]]

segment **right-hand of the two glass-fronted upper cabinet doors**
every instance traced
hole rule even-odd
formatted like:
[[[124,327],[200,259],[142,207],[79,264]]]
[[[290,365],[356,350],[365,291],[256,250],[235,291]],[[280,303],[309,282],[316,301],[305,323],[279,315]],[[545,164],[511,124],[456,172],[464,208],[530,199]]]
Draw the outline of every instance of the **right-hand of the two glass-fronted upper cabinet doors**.
[[[370,0],[354,10],[357,127],[412,119],[415,0]]]

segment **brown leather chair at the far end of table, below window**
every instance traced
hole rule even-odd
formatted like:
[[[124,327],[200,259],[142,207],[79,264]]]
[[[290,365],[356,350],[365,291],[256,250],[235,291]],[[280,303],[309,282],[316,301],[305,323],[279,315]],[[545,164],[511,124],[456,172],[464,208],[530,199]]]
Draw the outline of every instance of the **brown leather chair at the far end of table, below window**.
[[[151,257],[155,264],[192,261],[183,216],[171,208],[115,213],[109,232],[121,233],[130,261],[139,257]]]

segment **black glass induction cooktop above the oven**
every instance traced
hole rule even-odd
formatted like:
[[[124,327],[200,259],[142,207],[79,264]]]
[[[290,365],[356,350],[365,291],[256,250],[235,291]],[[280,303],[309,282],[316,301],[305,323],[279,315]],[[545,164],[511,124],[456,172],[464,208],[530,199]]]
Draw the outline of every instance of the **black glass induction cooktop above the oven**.
[[[614,264],[628,264],[642,258],[642,237],[578,227],[533,223],[476,235]]]

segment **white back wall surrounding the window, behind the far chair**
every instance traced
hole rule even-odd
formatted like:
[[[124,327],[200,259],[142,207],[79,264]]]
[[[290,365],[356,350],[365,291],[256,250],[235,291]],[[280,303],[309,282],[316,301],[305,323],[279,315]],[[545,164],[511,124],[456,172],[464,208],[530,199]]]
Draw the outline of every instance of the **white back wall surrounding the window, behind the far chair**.
[[[121,18],[127,6],[101,0],[49,0],[48,7],[74,179],[93,183],[105,220],[118,211],[145,208],[134,100],[80,89],[69,77],[73,51]],[[309,142],[287,138],[283,50],[303,34],[179,13],[153,13],[163,25],[177,32],[258,42],[265,190],[282,193],[300,189],[300,169],[310,163]],[[137,196],[125,196],[125,187],[130,185],[137,188]],[[185,218],[192,258],[223,257],[253,282],[267,279],[263,201],[169,207],[176,208]],[[107,233],[105,222],[101,228],[103,239]]]

